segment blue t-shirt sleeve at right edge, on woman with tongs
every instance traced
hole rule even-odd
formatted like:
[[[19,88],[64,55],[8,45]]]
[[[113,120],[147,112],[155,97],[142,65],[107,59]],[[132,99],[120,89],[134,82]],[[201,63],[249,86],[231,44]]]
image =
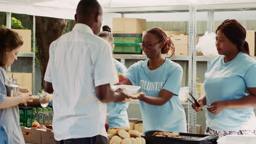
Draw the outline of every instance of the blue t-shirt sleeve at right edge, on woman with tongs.
[[[244,79],[246,87],[256,87],[256,63],[252,64],[246,71]]]

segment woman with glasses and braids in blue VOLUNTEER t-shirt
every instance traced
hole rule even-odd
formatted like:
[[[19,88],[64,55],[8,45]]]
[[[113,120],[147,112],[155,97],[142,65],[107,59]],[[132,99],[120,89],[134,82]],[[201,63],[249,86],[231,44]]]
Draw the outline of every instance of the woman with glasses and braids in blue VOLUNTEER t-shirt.
[[[142,38],[141,49],[146,61],[139,61],[128,69],[125,85],[140,86],[137,99],[141,106],[143,131],[187,132],[185,112],[178,94],[182,81],[182,67],[162,54],[174,46],[165,32],[158,27],[149,29]]]

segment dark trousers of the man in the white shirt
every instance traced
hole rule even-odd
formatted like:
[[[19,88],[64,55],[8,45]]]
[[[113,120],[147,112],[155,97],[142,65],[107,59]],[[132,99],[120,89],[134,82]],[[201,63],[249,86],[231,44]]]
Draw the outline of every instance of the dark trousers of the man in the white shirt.
[[[108,138],[102,135],[96,135],[94,137],[85,137],[79,139],[68,139],[56,141],[56,144],[108,144]]]

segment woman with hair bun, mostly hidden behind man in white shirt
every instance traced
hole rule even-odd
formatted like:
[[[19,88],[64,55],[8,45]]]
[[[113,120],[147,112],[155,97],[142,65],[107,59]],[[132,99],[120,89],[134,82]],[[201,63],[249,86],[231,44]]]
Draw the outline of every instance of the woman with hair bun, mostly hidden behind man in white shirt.
[[[103,31],[98,34],[99,37],[108,41],[110,45],[111,51],[114,50],[114,37],[111,33],[111,29],[108,26],[102,27]],[[117,59],[113,58],[113,62],[115,64],[115,68],[118,70],[118,73],[125,74],[127,68],[124,64],[117,61]],[[114,127],[130,127],[127,108],[129,106],[129,102],[120,102],[120,103],[108,103],[107,104],[107,113],[109,119],[109,128]]]

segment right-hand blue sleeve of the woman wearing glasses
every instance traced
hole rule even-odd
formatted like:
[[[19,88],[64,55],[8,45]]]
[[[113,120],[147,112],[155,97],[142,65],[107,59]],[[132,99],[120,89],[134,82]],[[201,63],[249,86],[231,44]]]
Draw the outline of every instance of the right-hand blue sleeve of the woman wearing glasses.
[[[162,89],[172,92],[174,95],[179,95],[179,89],[181,88],[183,69],[180,65],[173,70],[172,73],[168,76],[168,79],[165,82],[165,85]]]

